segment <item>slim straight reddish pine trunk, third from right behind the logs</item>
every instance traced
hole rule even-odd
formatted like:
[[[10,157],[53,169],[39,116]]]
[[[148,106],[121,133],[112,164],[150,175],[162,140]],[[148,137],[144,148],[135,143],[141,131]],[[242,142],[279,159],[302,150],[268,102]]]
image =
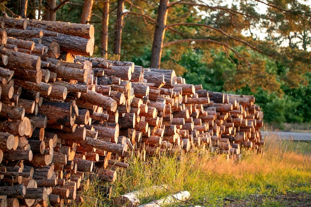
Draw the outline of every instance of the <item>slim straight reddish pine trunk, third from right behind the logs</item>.
[[[108,25],[109,25],[109,0],[104,1],[102,14],[101,56],[108,58]]]

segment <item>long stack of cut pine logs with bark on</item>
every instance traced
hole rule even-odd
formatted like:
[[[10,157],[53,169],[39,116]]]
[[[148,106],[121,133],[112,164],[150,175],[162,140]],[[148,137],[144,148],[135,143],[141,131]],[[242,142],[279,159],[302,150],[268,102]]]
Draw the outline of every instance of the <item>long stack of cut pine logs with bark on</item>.
[[[208,91],[171,69],[89,58],[92,25],[5,13],[0,21],[1,207],[81,203],[81,190],[114,182],[129,155],[261,151],[253,96]],[[99,189],[111,195],[109,185]]]

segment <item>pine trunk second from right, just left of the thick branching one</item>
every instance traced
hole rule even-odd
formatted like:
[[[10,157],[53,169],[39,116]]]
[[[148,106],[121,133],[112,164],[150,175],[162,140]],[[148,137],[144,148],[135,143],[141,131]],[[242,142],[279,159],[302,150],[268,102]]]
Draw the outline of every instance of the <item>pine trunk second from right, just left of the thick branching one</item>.
[[[118,56],[118,61],[120,60],[120,56],[121,56],[123,9],[124,9],[124,0],[118,0],[117,21],[116,21],[116,30],[114,32],[114,49],[113,49],[113,54]]]

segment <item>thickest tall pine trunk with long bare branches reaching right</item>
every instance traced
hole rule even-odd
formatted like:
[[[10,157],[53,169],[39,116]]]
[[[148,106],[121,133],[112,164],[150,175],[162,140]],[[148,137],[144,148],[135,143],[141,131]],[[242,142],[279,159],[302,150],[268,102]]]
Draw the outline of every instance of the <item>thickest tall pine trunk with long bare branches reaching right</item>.
[[[168,13],[168,0],[160,0],[157,12],[154,42],[151,51],[151,60],[150,60],[151,68],[157,69],[160,67],[167,13]]]

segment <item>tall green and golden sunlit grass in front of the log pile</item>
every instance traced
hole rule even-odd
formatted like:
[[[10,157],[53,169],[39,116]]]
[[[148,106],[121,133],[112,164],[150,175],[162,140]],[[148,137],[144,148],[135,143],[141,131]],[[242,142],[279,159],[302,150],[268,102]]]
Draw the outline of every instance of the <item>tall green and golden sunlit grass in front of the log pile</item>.
[[[297,192],[311,194],[311,142],[280,140],[273,134],[268,136],[262,154],[244,150],[240,161],[200,152],[150,157],[146,162],[133,157],[128,162],[129,169],[118,171],[113,196],[154,185],[169,186],[165,192],[139,198],[141,203],[189,191],[191,199],[176,207],[219,207],[228,200],[243,200],[250,195],[267,197],[262,207],[281,207],[284,204],[271,198]],[[111,200],[92,192],[87,195],[98,198],[98,206],[112,204]]]

